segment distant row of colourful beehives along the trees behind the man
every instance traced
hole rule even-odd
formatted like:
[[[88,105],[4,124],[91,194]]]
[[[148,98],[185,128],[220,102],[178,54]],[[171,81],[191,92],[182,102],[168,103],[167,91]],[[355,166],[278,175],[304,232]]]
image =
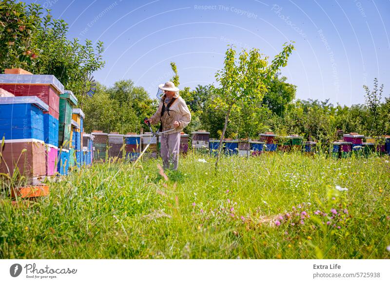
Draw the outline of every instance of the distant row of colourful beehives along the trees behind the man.
[[[149,146],[149,154],[156,157],[160,148],[160,141],[153,137],[151,133],[137,135],[128,133],[120,135],[115,132],[110,134],[94,131],[95,135],[95,157],[96,160],[105,160],[106,157],[119,157],[126,159],[136,159],[139,153]],[[219,148],[219,140],[210,139],[210,133],[206,131],[197,131],[191,133],[192,147],[194,149],[210,151],[216,154]],[[368,137],[369,138],[369,137]],[[344,135],[344,139],[333,143],[331,155],[334,157],[346,157],[355,152],[374,152],[380,153],[390,152],[390,138],[384,138],[382,145],[374,145],[372,138],[363,142],[363,136],[355,133]],[[180,151],[186,153],[188,151],[189,135],[181,133]],[[225,139],[222,142],[222,149],[226,154],[237,154],[240,156],[258,155],[262,152],[291,150],[303,151],[313,154],[316,151],[315,141],[304,141],[303,137],[298,135],[277,136],[271,132],[259,135],[259,140],[233,140]],[[107,152],[108,150],[108,152]]]

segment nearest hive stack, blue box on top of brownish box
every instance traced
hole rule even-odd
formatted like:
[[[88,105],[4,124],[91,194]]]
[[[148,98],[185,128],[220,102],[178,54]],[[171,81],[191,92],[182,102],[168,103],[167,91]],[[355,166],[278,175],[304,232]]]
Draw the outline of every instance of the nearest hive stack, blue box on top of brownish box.
[[[46,176],[46,151],[43,142],[43,111],[49,107],[36,96],[0,98],[0,172],[28,178]],[[9,170],[9,171],[8,171]]]

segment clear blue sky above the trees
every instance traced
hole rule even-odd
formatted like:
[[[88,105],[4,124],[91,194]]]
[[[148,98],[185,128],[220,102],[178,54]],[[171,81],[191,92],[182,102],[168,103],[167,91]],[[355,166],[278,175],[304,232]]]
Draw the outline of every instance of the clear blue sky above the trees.
[[[32,2],[32,1],[27,1]],[[228,44],[271,58],[295,41],[282,74],[297,98],[364,102],[375,77],[390,88],[389,0],[37,0],[69,24],[69,37],[101,40],[106,65],[94,77],[110,86],[132,79],[155,97],[172,77],[179,88],[215,82]]]

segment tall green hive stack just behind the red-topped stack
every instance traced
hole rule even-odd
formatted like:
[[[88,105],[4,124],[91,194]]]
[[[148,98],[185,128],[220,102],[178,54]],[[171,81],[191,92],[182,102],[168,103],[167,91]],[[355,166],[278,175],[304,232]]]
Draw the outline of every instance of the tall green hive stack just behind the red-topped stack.
[[[59,95],[59,147],[71,147],[72,113],[77,103],[76,96],[70,90],[64,90],[64,93]]]

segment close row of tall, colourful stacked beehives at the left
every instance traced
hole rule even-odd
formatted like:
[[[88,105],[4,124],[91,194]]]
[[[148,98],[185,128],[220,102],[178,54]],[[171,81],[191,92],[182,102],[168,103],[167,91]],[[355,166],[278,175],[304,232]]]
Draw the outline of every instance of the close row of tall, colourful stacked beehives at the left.
[[[83,135],[84,113],[72,91],[53,75],[21,69],[0,74],[0,172],[38,184],[69,166],[92,162],[92,141]]]

